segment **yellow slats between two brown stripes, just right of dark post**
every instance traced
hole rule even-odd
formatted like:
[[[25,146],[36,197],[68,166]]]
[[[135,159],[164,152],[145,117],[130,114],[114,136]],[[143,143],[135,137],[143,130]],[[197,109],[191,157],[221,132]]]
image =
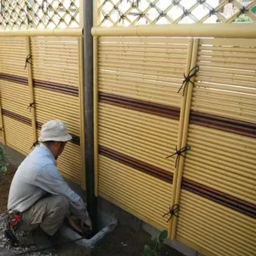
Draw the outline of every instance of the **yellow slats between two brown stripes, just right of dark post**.
[[[99,104],[99,144],[173,172],[178,121]]]

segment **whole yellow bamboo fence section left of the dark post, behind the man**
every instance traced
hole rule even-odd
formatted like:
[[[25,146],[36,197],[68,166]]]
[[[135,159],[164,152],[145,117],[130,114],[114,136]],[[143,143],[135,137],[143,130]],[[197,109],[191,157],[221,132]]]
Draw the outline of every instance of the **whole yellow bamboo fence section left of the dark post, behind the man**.
[[[3,37],[0,44],[6,144],[28,154],[41,126],[50,119],[61,119],[73,141],[58,160],[59,168],[84,186],[82,38]]]

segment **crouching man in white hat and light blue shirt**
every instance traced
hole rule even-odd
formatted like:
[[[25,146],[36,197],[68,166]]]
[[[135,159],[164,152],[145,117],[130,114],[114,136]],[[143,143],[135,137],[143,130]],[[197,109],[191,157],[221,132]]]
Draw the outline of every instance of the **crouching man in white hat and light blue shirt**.
[[[84,201],[61,177],[56,160],[72,137],[60,120],[42,126],[40,145],[21,163],[9,190],[8,212],[20,214],[20,230],[37,228],[54,236],[64,218],[78,218],[80,228],[91,222]]]

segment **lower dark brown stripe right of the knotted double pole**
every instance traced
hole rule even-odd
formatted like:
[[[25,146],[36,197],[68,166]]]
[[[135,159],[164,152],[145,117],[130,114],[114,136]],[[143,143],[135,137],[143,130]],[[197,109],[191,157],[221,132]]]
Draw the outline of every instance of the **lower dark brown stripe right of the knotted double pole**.
[[[241,212],[247,216],[256,218],[256,205],[253,205],[252,203],[242,201],[234,196],[209,188],[187,178],[183,178],[182,188],[193,192],[196,195],[201,195],[211,201],[215,201],[225,207],[236,210],[237,212]]]

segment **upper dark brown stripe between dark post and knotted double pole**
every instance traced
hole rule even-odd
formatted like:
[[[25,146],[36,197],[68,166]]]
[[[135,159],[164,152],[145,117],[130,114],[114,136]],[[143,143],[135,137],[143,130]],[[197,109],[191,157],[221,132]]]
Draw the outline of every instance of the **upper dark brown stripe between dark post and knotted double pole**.
[[[108,93],[99,93],[99,101],[118,106],[129,108],[143,113],[152,113],[169,119],[179,119],[179,108],[161,105],[153,102],[146,102],[132,99],[124,96],[116,96]]]

